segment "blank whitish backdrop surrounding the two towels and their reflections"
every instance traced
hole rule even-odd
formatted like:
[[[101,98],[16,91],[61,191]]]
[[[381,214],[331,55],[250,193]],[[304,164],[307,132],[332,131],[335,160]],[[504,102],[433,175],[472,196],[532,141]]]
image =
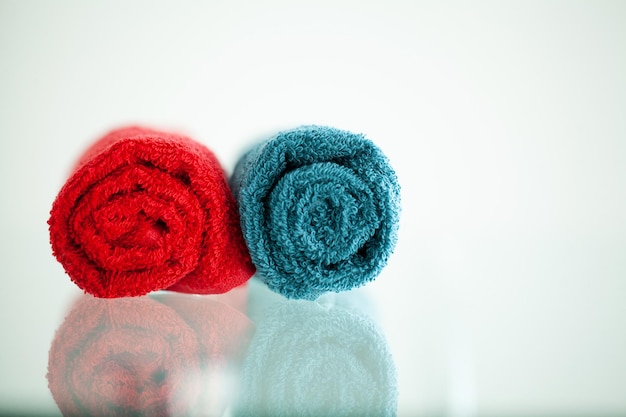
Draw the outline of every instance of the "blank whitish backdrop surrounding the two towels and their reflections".
[[[46,221],[128,123],[228,172],[300,124],[365,133],[403,187],[368,285],[400,415],[626,413],[626,3],[0,1],[0,405],[54,409],[80,293]]]

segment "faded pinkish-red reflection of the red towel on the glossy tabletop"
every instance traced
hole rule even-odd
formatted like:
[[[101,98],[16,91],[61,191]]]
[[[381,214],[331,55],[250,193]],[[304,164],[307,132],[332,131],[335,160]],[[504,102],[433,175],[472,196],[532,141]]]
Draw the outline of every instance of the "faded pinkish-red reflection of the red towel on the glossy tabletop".
[[[222,415],[231,405],[226,377],[240,367],[252,322],[206,297],[159,296],[75,304],[48,362],[64,416]]]

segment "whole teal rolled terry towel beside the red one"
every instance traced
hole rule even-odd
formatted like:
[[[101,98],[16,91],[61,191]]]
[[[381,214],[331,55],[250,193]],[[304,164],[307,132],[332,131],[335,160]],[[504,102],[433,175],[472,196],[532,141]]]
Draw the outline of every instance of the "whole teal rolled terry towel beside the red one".
[[[363,135],[324,126],[281,132],[239,160],[231,187],[259,277],[288,298],[363,285],[393,252],[400,187]]]

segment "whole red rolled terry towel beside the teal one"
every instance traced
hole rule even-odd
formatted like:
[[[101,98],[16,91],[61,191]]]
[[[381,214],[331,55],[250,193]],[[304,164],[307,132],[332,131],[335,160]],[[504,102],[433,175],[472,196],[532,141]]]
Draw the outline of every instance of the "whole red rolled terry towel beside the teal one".
[[[54,255],[96,297],[223,293],[254,273],[222,167],[177,134],[129,127],[95,142],[48,223]]]

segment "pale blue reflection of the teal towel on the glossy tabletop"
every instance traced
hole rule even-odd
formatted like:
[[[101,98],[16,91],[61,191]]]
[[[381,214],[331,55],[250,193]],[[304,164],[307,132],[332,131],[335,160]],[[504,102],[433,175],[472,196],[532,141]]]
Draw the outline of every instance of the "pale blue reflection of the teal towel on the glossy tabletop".
[[[268,304],[252,307],[257,329],[235,416],[396,415],[395,365],[366,315],[304,300]]]

